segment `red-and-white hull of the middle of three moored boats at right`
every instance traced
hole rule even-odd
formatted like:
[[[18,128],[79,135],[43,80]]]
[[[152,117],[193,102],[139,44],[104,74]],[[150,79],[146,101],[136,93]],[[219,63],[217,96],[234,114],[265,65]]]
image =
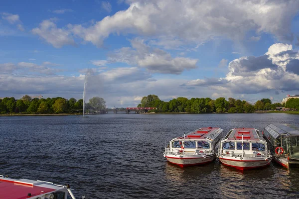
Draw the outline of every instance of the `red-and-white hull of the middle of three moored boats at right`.
[[[248,170],[248,169],[256,169],[261,167],[266,167],[270,165],[272,161],[271,158],[243,158],[242,160],[239,157],[219,157],[220,162],[229,167],[234,167],[239,170]]]

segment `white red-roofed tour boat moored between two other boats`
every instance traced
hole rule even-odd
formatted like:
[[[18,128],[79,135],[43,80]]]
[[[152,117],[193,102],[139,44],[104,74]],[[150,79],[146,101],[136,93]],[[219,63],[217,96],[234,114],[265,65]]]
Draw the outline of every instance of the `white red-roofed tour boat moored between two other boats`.
[[[221,140],[217,157],[222,164],[240,170],[269,165],[273,159],[267,142],[255,128],[234,128]]]

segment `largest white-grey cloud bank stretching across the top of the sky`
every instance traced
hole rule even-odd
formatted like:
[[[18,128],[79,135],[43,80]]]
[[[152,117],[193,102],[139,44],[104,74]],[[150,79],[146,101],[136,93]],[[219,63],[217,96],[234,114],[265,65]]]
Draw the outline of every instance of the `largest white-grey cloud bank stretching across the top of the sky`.
[[[84,41],[101,47],[110,34],[136,34],[151,38],[156,45],[177,48],[178,45],[201,45],[218,38],[242,40],[248,31],[274,35],[278,40],[291,41],[291,21],[299,7],[298,0],[130,0],[126,10],[106,16],[90,26],[68,24],[55,28],[55,34],[69,37],[70,32]],[[102,1],[110,11],[110,3]],[[67,34],[63,34],[67,32]],[[51,35],[44,35],[48,42]],[[251,39],[258,40],[259,36]],[[175,42],[173,42],[175,41]],[[52,42],[49,42],[54,45]],[[61,45],[69,44],[62,42]],[[57,44],[56,44],[57,46]]]

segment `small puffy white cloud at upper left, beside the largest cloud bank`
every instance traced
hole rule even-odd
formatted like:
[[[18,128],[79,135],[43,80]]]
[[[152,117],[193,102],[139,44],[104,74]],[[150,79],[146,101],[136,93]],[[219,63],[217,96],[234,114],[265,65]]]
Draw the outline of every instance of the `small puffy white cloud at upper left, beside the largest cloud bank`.
[[[38,28],[33,28],[33,34],[39,35],[46,42],[52,44],[55,48],[61,48],[63,45],[75,45],[75,41],[71,38],[69,30],[57,28],[53,22],[56,19],[43,20]]]

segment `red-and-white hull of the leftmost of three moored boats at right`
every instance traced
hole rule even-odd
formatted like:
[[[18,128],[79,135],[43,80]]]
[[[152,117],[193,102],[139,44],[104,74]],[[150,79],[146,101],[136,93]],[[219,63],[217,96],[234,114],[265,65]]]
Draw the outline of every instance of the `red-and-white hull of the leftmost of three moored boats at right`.
[[[167,155],[165,156],[168,162],[171,164],[178,165],[179,167],[190,167],[195,165],[202,165],[212,162],[216,159],[216,154],[206,155],[206,156],[175,156],[175,155]]]

